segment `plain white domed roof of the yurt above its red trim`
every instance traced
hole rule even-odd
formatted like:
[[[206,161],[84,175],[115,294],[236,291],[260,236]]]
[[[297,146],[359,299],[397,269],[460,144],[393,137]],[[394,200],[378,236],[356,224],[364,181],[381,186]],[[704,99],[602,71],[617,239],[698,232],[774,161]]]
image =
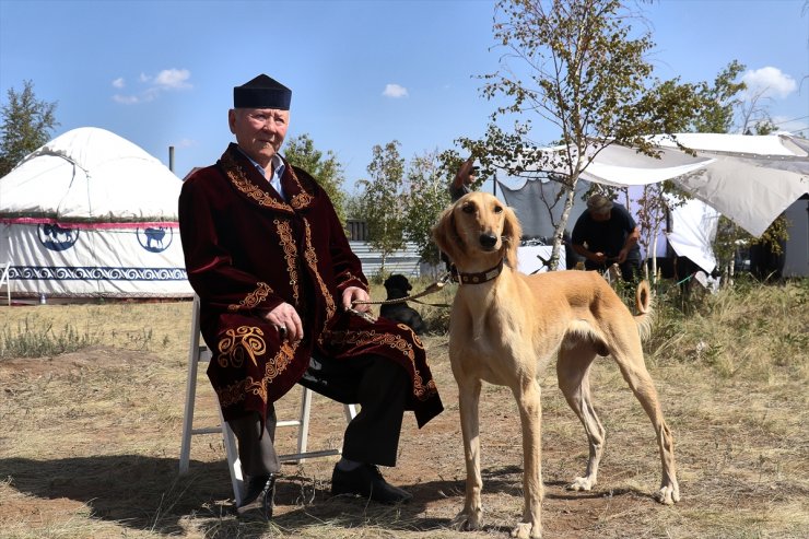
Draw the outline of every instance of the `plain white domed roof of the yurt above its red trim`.
[[[0,178],[0,219],[58,223],[176,222],[181,180],[104,129],[68,131]]]

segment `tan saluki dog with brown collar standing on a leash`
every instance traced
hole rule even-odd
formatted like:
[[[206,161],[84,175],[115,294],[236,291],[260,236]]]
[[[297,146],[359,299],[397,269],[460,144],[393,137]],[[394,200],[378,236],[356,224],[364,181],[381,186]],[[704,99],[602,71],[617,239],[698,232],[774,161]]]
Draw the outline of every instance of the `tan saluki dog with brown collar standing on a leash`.
[[[611,355],[652,419],[663,461],[657,499],[680,500],[673,440],[646,371],[641,333],[648,330],[647,282],[637,289],[633,316],[603,277],[595,271],[517,271],[521,231],[514,212],[495,197],[470,192],[439,216],[433,238],[458,272],[449,323],[449,360],[458,383],[467,468],[466,502],[455,524],[482,526],[482,480],[478,403],[483,380],[507,386],[523,427],[525,508],[513,537],[541,537],[542,465],[540,387],[537,375],[555,355],[559,387],[584,424],[589,459],[584,477],[568,489],[596,484],[605,430],[590,398],[589,368],[598,355]]]

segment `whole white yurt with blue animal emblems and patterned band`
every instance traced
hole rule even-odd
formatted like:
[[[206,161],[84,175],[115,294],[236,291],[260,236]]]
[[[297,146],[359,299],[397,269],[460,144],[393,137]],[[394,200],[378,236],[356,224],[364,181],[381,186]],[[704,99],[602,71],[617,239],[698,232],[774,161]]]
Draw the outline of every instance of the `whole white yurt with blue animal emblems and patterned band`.
[[[69,131],[0,178],[0,262],[17,296],[187,297],[181,181],[103,129]]]

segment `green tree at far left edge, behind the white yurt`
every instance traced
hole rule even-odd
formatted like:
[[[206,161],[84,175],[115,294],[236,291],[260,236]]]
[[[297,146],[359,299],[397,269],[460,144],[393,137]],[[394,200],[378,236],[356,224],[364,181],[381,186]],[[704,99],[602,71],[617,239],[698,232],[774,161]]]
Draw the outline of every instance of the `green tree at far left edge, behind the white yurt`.
[[[25,81],[20,93],[9,89],[8,103],[2,106],[0,177],[50,140],[50,132],[59,125],[55,116],[56,105],[37,101],[32,81]]]

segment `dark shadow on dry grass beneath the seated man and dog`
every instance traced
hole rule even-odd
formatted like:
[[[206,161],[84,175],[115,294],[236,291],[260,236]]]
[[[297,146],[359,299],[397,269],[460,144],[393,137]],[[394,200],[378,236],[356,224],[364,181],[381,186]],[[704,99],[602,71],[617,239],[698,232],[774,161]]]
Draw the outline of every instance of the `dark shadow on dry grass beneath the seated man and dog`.
[[[16,491],[44,500],[68,499],[86,504],[93,517],[132,529],[184,535],[192,518],[204,537],[295,536],[306,527],[357,528],[373,526],[390,531],[430,531],[447,528],[450,518],[430,517],[436,506],[453,516],[464,504],[462,480],[438,480],[401,484],[413,494],[404,505],[389,506],[349,496],[331,496],[328,481],[318,481],[294,470],[284,470],[275,495],[275,517],[268,524],[256,517],[236,518],[233,492],[224,462],[191,461],[179,476],[176,458],[137,455],[31,460],[0,459],[0,477],[11,478]],[[504,493],[521,503],[521,470],[496,467],[482,470],[484,491]],[[566,495],[549,494],[565,500]],[[614,494],[622,494],[615,492]],[[603,494],[571,493],[571,499]],[[427,506],[431,511],[426,511]],[[496,530],[490,530],[496,531]]]

